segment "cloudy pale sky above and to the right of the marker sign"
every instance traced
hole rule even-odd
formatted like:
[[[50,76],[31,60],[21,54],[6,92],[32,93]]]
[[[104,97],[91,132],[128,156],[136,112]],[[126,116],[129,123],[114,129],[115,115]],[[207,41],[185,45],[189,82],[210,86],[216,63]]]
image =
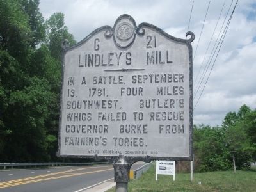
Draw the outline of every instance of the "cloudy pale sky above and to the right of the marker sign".
[[[236,0],[41,0],[40,12],[44,19],[64,13],[77,42],[101,26],[113,26],[122,14],[131,15],[137,26],[148,22],[177,38],[186,38],[189,29],[195,33],[194,124],[214,126],[243,104],[256,108],[256,0],[237,3],[220,41],[235,4]]]

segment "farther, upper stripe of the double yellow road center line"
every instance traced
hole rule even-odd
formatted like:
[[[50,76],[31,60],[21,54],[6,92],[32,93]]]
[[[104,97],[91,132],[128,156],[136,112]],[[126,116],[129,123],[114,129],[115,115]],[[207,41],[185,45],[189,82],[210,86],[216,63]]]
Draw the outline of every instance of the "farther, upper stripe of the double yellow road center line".
[[[97,166],[95,168],[108,168],[108,167],[113,167],[113,166]],[[5,186],[6,184],[12,184],[12,183],[15,183],[15,182],[20,182],[20,181],[22,182],[22,181],[31,180],[31,179],[48,177],[48,176],[51,176],[51,175],[60,175],[60,174],[63,174],[63,173],[75,172],[75,171],[79,171],[79,170],[88,170],[90,168],[92,168],[92,167],[78,168],[78,169],[75,169],[75,170],[67,170],[67,171],[63,171],[63,172],[49,173],[49,174],[44,174],[44,175],[37,175],[37,176],[34,176],[34,177],[25,177],[25,178],[22,178],[22,179],[0,182],[0,188],[1,188],[1,186]]]

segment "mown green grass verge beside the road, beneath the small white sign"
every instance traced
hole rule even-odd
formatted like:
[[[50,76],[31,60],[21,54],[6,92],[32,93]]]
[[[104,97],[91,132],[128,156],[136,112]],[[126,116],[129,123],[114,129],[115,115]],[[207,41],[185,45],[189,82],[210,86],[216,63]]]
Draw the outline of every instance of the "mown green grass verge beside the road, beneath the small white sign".
[[[190,173],[176,174],[173,182],[172,175],[158,175],[156,181],[156,164],[140,179],[131,180],[129,191],[256,191],[256,171],[232,171],[194,173],[190,182]],[[200,183],[200,184],[199,184]],[[115,191],[115,188],[108,192]]]

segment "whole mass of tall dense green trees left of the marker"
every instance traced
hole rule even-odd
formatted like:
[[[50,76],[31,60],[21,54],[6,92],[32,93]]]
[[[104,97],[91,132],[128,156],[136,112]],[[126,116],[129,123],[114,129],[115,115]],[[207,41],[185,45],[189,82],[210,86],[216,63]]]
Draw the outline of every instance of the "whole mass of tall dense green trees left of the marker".
[[[38,0],[0,0],[0,162],[54,161],[64,15]]]

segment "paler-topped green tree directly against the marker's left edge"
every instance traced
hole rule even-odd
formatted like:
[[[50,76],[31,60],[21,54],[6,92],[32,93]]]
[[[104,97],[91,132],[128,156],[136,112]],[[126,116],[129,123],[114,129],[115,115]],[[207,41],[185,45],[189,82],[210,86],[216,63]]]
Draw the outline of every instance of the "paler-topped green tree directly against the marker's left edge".
[[[45,21],[46,38],[45,44],[36,51],[35,62],[41,63],[44,68],[45,77],[51,82],[51,91],[54,93],[52,97],[51,111],[47,119],[47,146],[49,154],[52,158],[56,156],[57,138],[58,138],[58,120],[59,120],[59,99],[61,86],[61,56],[62,48],[61,41],[67,39],[70,45],[76,44],[74,36],[68,33],[68,28],[65,26],[64,14],[54,13]],[[37,69],[35,69],[36,71]]]

